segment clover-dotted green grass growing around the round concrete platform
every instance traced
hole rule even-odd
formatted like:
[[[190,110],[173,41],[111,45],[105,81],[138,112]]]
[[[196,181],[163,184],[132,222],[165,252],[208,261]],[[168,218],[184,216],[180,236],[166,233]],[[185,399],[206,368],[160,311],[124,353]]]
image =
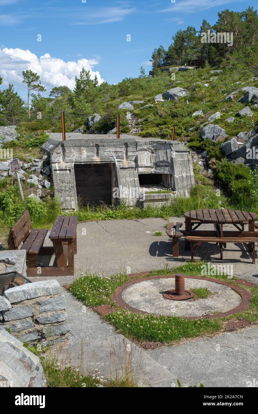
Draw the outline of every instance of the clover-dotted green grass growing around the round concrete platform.
[[[159,270],[152,270],[145,277],[181,273],[190,276],[200,276],[204,262],[187,262],[176,268],[164,267]],[[212,276],[214,279],[229,282],[227,275]],[[230,279],[231,284],[239,285],[236,278]],[[100,278],[97,275],[85,275],[75,280],[70,287],[70,291],[82,301],[86,306],[96,305],[117,305],[112,300],[113,292],[128,280],[126,274],[113,275],[111,278]],[[242,285],[239,285],[242,286]],[[248,320],[258,322],[258,287],[248,288],[252,295],[252,302],[248,310],[227,318],[216,318],[214,320],[199,319],[188,320],[182,317],[151,315],[142,313],[132,313],[128,310],[118,309],[118,311],[105,316],[105,320],[112,323],[116,330],[127,338],[136,341],[151,341],[172,344],[184,338],[202,337],[212,335],[222,330],[225,320]],[[193,289],[196,299],[207,298],[211,295],[208,289]]]

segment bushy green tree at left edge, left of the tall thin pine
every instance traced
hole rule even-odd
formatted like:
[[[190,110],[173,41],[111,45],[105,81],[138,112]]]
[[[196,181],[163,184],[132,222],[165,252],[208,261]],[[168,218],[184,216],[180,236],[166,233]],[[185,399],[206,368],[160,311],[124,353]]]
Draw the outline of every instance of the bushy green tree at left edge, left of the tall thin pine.
[[[9,83],[8,88],[2,91],[0,103],[1,118],[8,125],[15,125],[26,116],[24,101],[14,92],[13,84]]]

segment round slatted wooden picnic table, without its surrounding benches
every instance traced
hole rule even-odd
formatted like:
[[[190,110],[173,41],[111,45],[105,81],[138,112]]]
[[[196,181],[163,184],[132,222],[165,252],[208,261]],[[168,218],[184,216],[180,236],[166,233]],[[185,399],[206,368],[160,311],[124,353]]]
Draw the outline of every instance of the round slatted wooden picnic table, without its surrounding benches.
[[[257,217],[255,213],[233,209],[191,210],[187,211],[184,216],[187,231],[192,230],[193,224],[197,224],[195,227],[197,228],[202,223],[211,223],[217,225],[220,237],[223,237],[223,224],[233,224],[239,231],[244,231],[244,224],[248,224],[248,231],[255,231],[255,219]],[[241,229],[237,224],[241,225]],[[190,243],[186,241],[186,250],[189,249]]]

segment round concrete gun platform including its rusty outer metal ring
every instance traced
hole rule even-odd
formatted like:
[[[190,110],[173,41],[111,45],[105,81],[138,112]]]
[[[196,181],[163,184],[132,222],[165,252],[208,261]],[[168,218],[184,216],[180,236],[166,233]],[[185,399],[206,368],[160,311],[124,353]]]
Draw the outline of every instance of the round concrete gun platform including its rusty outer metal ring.
[[[185,318],[219,318],[246,310],[251,295],[240,286],[207,277],[185,276],[186,289],[206,288],[210,296],[170,301],[163,293],[175,289],[175,275],[130,280],[120,286],[113,299],[123,309]]]

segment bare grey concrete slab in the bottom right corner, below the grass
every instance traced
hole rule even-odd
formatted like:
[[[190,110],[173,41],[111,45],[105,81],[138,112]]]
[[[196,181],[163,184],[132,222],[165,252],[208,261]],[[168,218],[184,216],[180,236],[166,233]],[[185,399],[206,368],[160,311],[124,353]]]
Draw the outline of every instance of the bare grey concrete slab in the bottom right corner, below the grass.
[[[146,352],[185,387],[250,387],[253,378],[258,385],[257,342],[256,326]]]

